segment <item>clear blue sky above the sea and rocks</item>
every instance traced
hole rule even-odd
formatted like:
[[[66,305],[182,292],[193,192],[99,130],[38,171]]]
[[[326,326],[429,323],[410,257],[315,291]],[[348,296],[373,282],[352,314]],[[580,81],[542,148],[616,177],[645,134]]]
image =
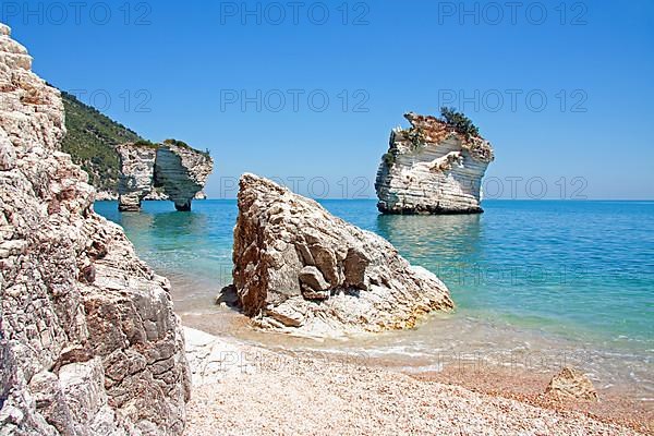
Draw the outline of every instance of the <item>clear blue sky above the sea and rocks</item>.
[[[73,4],[2,1],[0,19],[48,82],[209,148],[211,197],[244,171],[374,197],[402,113],[448,104],[496,148],[488,197],[654,198],[650,0]]]

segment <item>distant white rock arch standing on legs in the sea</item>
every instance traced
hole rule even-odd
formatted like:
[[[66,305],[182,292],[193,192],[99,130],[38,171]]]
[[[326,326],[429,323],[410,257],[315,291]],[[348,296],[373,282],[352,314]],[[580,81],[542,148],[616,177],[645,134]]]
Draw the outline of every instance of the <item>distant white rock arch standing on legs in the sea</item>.
[[[167,198],[178,210],[191,210],[191,201],[202,198],[202,190],[214,169],[206,153],[178,141],[146,142],[117,147],[120,156],[119,209],[141,210],[146,198]]]

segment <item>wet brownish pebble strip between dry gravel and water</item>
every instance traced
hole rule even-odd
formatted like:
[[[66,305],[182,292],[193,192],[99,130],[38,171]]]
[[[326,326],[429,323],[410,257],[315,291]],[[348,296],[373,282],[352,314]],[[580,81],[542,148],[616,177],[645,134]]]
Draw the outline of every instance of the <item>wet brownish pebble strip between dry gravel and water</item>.
[[[294,338],[287,335],[259,331],[251,327],[249,318],[234,313],[229,319],[220,315],[183,315],[186,327],[199,328],[206,335],[226,343],[235,344],[240,351],[240,361],[245,360],[247,353],[255,354],[254,361],[266,356],[283,356],[283,359],[312,362],[324,362],[324,365],[343,366],[351,365],[372,371],[383,371],[390,374],[402,374],[420,383],[438,383],[455,386],[475,393],[517,400],[520,403],[538,409],[553,410],[560,413],[581,413],[589,419],[606,424],[616,424],[629,427],[642,434],[654,435],[654,404],[649,401],[637,400],[634,392],[627,386],[613,386],[608,389],[595,380],[600,393],[600,401],[589,402],[583,400],[556,400],[544,395],[545,388],[552,377],[558,373],[558,367],[504,367],[495,364],[480,364],[480,361],[458,361],[444,364],[439,371],[429,366],[420,365],[415,358],[407,355],[403,359],[388,356],[384,353],[371,352],[364,348],[332,347],[320,349],[311,344],[322,344],[311,338]],[[216,317],[221,317],[221,324],[216,327]],[[211,332],[208,332],[214,330]],[[221,331],[218,331],[221,330]],[[250,335],[244,335],[249,332]],[[265,341],[264,339],[268,339]],[[304,339],[304,344],[295,340]],[[375,337],[371,337],[375,339]],[[291,340],[291,342],[287,342]],[[350,340],[341,340],[348,344]],[[233,349],[230,349],[233,351]],[[244,350],[244,351],[243,351]],[[359,350],[359,351],[356,351]],[[262,354],[263,353],[263,354]],[[270,359],[270,358],[268,358]],[[281,359],[281,358],[272,358]],[[232,362],[233,364],[233,362]],[[291,364],[293,365],[293,364]],[[272,374],[274,375],[274,374]]]

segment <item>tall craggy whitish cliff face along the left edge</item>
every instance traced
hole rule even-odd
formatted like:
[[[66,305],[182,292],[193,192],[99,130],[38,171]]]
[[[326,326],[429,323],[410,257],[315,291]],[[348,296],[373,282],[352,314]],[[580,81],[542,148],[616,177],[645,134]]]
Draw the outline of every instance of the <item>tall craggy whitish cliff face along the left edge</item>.
[[[93,211],[60,94],[0,25],[0,435],[180,435],[168,281]]]

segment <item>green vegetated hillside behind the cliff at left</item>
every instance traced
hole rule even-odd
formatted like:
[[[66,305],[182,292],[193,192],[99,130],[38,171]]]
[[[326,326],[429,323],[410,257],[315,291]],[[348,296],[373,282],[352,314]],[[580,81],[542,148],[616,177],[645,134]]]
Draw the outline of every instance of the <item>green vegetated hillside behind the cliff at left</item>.
[[[144,140],[75,96],[65,92],[61,96],[68,131],[62,144],[63,152],[88,172],[90,184],[98,191],[117,192],[120,171],[114,147]]]

